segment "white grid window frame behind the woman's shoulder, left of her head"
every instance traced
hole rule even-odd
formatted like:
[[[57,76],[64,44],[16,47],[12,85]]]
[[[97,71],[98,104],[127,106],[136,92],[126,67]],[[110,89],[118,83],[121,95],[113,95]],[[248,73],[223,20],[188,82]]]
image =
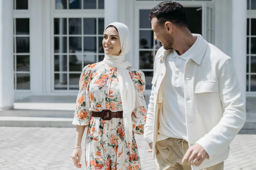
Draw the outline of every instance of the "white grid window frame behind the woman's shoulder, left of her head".
[[[98,0],[97,0],[98,2]],[[83,1],[82,1],[82,5],[83,5]],[[51,71],[50,71],[50,88],[51,88],[51,92],[54,93],[76,93],[78,91],[78,89],[73,90],[73,89],[69,89],[70,84],[69,84],[69,75],[70,74],[80,74],[82,73],[81,71],[77,71],[77,72],[69,72],[69,43],[68,43],[68,37],[70,37],[69,35],[69,27],[68,27],[68,20],[69,18],[81,18],[82,19],[82,33],[81,35],[75,35],[75,36],[79,36],[79,37],[86,37],[87,35],[83,34],[83,18],[97,18],[96,20],[96,35],[90,35],[90,36],[95,36],[96,38],[96,44],[99,44],[99,38],[101,35],[98,34],[98,29],[99,29],[99,23],[98,23],[98,18],[104,18],[104,9],[55,9],[55,0],[51,0],[51,6],[52,6],[52,13],[51,13],[51,19],[50,19],[50,29],[51,29],[51,57],[50,57],[50,65],[51,65]],[[98,8],[98,3],[97,3],[97,8]],[[60,35],[54,35],[54,18],[66,18],[67,19],[67,35],[64,35],[65,37],[67,37],[67,52],[66,53],[54,53],[54,37],[57,36],[59,37]],[[74,36],[74,35],[71,35]],[[103,34],[102,34],[103,36]],[[83,47],[83,40],[82,40],[82,47]],[[96,53],[93,53],[93,55],[96,55],[96,62],[99,61],[99,55],[103,54],[103,53],[99,53],[98,50],[98,45],[96,46]],[[54,71],[54,56],[55,55],[67,55],[67,71],[63,71],[64,74],[67,74],[67,89],[66,90],[58,90],[55,89],[55,79],[54,79],[54,75],[60,73],[59,71]],[[82,56],[82,61],[83,61],[83,56],[84,53],[82,51],[81,53]],[[85,66],[85,65],[84,65]],[[47,81],[47,80],[46,80]],[[48,83],[48,82],[46,82]],[[78,82],[79,83],[79,82]]]

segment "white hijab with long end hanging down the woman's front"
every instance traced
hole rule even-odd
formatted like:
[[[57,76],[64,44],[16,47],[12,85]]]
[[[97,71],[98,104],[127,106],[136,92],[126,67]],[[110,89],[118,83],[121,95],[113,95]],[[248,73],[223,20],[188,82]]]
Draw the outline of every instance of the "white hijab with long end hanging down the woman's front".
[[[131,48],[130,30],[126,25],[120,22],[113,22],[109,25],[114,25],[118,30],[121,53],[118,56],[105,54],[103,62],[111,67],[117,67],[117,76],[120,84],[120,95],[123,107],[125,140],[131,144],[133,140],[132,112],[135,106],[136,95],[133,80],[131,79],[129,71],[126,69],[127,67],[131,67],[131,63],[125,61],[125,54],[127,54]]]

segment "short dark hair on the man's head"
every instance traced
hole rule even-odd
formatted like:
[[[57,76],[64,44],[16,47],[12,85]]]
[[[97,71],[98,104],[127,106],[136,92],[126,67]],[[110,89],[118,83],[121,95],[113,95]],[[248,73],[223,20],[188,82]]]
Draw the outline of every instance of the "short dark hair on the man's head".
[[[176,2],[165,1],[154,7],[149,19],[156,17],[158,23],[163,26],[167,21],[179,27],[188,27],[188,17],[185,8]]]

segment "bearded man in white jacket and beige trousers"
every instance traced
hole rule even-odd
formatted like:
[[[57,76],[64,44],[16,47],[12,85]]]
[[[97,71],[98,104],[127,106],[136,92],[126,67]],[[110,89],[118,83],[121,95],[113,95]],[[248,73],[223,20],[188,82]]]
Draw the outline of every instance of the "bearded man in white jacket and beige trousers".
[[[161,2],[150,20],[163,45],[155,56],[144,127],[157,169],[223,170],[229,144],[246,119],[232,60],[189,31],[178,3]]]

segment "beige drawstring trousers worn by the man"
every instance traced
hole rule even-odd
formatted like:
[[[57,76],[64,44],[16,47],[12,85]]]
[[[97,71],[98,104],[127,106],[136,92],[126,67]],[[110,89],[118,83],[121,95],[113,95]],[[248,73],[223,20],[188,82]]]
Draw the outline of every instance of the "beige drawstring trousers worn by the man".
[[[183,155],[189,149],[187,141],[176,138],[168,138],[156,142],[156,169],[157,170],[191,170],[191,165],[182,165]],[[183,153],[184,152],[184,153]],[[203,170],[223,170],[224,162]]]

